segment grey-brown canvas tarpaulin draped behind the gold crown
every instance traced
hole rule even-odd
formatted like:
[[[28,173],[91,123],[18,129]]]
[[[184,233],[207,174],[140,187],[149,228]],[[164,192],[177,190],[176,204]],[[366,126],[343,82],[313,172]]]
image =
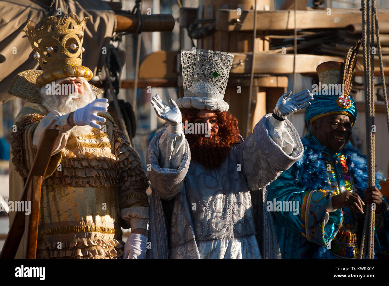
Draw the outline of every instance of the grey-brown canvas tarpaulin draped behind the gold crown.
[[[61,15],[58,15],[61,9]],[[30,42],[22,30],[28,20],[38,23],[48,16],[76,14],[80,19],[89,17],[84,31],[85,54],[82,65],[89,67],[93,74],[102,68],[105,57],[103,47],[109,48],[110,37],[116,28],[115,13],[107,2],[96,0],[56,0],[51,11],[46,5],[30,0],[0,1],[0,102],[13,98],[7,93],[14,77],[24,70],[39,68],[33,58]],[[16,48],[16,49],[15,49]]]

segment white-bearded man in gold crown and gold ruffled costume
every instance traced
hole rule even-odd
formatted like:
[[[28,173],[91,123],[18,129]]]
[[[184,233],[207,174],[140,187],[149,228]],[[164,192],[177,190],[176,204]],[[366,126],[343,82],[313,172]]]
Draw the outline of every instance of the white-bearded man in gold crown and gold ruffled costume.
[[[81,65],[87,20],[51,16],[24,31],[42,70],[19,73],[9,89],[28,100],[11,138],[10,200],[21,197],[44,131],[57,129],[42,182],[37,258],[144,258],[148,183]],[[121,227],[132,229],[124,252]]]

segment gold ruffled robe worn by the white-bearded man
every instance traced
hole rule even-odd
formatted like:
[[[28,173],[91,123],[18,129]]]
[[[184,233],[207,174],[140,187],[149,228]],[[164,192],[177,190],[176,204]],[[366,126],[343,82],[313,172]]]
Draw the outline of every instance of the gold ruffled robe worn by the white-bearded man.
[[[35,155],[32,134],[45,113],[42,105],[29,102],[16,118],[10,200],[21,197]],[[108,119],[106,132],[70,135],[51,158],[42,184],[37,258],[117,258],[123,254],[121,226],[128,228],[130,222],[121,219],[120,210],[148,207],[147,179],[137,154],[110,116],[100,115]],[[146,228],[141,213],[132,219],[136,227]],[[11,221],[13,217],[11,213]],[[21,249],[18,253],[21,257]]]

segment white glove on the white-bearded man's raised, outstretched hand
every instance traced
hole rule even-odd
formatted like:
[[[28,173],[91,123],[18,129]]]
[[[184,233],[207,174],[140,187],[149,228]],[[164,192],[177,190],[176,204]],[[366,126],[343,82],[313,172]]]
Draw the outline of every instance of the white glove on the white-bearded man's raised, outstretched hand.
[[[100,129],[101,126],[96,121],[105,122],[105,118],[97,116],[97,112],[107,112],[108,106],[107,98],[96,99],[90,104],[74,111],[73,121],[77,126],[90,125],[93,128]]]

